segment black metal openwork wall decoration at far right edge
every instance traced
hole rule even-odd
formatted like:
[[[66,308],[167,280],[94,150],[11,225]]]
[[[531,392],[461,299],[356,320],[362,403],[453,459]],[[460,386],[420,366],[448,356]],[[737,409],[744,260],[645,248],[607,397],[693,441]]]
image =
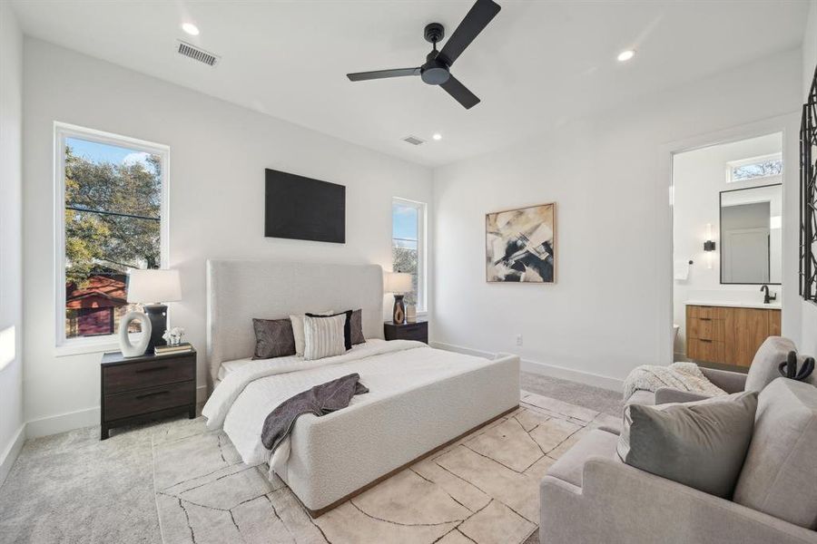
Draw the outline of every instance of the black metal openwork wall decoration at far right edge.
[[[817,68],[800,124],[800,295],[817,304]]]

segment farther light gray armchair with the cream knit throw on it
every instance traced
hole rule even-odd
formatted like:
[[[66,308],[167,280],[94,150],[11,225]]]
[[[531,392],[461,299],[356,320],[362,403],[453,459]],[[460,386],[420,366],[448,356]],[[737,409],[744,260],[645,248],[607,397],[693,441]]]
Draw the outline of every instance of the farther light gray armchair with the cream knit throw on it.
[[[752,365],[749,367],[749,374],[739,372],[728,372],[715,370],[712,368],[700,367],[710,382],[717,385],[726,393],[740,393],[741,391],[763,390],[775,378],[780,377],[778,365],[786,360],[786,355],[790,351],[797,351],[794,343],[783,336],[769,336],[763,345],[754,355]],[[800,357],[799,364],[802,364],[803,357]],[[817,385],[817,373],[812,374],[809,383]],[[706,398],[699,393],[680,391],[671,387],[661,387],[655,393],[650,391],[636,391],[626,400],[627,404],[664,404],[664,403],[689,403],[700,401]]]

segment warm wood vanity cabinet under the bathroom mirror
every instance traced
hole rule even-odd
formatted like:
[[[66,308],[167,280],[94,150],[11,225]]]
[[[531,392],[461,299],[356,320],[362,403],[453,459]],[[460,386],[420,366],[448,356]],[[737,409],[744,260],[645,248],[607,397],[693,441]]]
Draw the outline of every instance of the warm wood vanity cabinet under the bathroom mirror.
[[[779,308],[686,306],[686,356],[748,367],[769,336],[780,335]]]

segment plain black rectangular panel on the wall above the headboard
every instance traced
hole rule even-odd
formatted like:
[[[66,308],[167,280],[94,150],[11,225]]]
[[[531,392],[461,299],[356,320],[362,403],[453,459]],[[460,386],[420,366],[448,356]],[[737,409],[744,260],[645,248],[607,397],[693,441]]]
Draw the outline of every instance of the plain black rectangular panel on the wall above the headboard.
[[[266,170],[264,236],[346,243],[346,187]]]

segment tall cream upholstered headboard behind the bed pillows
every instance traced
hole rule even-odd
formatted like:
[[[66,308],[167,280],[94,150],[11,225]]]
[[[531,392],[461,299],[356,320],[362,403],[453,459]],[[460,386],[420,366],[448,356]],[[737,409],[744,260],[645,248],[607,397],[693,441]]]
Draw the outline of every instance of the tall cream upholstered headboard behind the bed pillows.
[[[215,380],[224,361],[252,355],[252,318],[363,310],[363,335],[383,337],[383,270],[264,260],[207,261],[207,359]]]

